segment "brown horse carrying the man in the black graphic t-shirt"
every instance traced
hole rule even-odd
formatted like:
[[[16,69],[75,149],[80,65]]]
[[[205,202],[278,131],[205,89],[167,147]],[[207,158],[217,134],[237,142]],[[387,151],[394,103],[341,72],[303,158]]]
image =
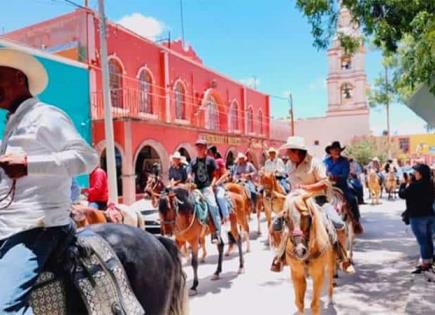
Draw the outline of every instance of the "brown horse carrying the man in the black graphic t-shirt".
[[[153,184],[153,187],[161,185]],[[175,241],[180,246],[185,243],[190,244],[192,250],[192,268],[194,273],[193,285],[191,287],[191,293],[196,294],[198,287],[198,248],[200,244],[200,237],[203,235],[204,229],[208,228],[210,231],[214,231],[215,228],[210,224],[203,225],[199,219],[199,213],[197,205],[194,204],[192,198],[193,185],[186,185],[186,188],[175,187],[171,192],[166,193],[164,191],[152,191],[154,198],[159,198],[159,212],[161,216],[162,233],[164,235],[175,235]],[[154,188],[154,189],[155,189]],[[237,221],[238,217],[243,217],[243,213],[237,215],[237,207],[234,212],[230,214],[231,222],[231,234],[234,237],[238,250],[239,250],[239,273],[244,272],[244,257],[242,251],[242,238],[238,230]],[[222,272],[222,261],[224,244],[217,244],[219,258],[218,266],[213,275],[212,280],[218,280],[220,273]]]

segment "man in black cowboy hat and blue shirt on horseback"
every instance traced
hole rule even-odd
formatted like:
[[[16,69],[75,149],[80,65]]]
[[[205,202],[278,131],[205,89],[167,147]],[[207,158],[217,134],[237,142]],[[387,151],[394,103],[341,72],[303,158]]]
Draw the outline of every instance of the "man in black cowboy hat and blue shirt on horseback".
[[[341,155],[345,147],[341,147],[339,141],[334,141],[325,148],[328,157],[324,160],[326,172],[334,185],[339,188],[350,205],[352,219],[354,222],[354,231],[356,234],[362,233],[362,226],[359,222],[360,212],[356,196],[349,188],[348,179],[350,172],[349,160]]]

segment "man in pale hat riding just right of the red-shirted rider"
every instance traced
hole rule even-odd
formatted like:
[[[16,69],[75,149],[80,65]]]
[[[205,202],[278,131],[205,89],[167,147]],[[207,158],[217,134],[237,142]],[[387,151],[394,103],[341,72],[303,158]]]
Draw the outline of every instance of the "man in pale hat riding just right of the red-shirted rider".
[[[255,187],[253,179],[256,174],[257,169],[255,166],[251,162],[248,162],[248,157],[245,154],[240,152],[237,155],[236,164],[232,170],[232,177],[235,181],[242,180],[246,185],[254,211],[257,204],[257,188]]]

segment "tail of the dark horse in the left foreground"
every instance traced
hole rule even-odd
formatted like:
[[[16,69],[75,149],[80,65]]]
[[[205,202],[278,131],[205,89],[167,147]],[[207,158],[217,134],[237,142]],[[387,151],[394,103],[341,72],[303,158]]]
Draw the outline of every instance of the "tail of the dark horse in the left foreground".
[[[160,243],[166,248],[171,256],[174,270],[174,287],[172,290],[169,315],[187,315],[188,310],[188,292],[186,290],[186,274],[183,271],[179,251],[175,243],[165,237],[158,236]]]

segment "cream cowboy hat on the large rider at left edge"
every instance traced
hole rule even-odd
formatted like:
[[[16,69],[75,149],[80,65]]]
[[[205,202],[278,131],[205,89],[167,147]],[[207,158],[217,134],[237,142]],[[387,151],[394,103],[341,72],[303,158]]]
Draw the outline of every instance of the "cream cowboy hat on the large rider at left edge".
[[[45,67],[32,55],[12,49],[0,48],[0,66],[23,72],[29,83],[29,91],[33,96],[41,94],[48,84]]]

